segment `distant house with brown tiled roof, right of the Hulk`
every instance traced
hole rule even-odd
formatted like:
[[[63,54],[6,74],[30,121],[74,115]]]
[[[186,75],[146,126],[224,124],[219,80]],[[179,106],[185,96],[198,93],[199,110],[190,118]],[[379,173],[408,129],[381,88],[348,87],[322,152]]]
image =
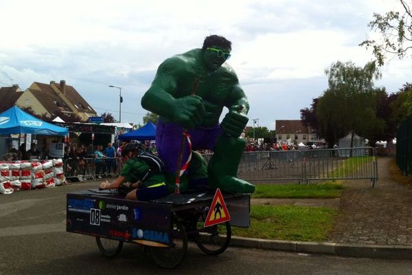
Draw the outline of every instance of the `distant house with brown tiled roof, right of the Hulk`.
[[[275,124],[277,142],[282,143],[290,140],[291,142],[295,141],[295,144],[300,142],[307,144],[319,139],[316,131],[306,127],[301,120],[276,120]]]

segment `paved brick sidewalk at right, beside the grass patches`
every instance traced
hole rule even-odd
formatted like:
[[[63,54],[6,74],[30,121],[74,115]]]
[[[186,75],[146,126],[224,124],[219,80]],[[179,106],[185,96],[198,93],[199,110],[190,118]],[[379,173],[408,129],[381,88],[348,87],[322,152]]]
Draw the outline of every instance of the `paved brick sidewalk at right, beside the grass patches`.
[[[412,245],[412,186],[389,173],[393,159],[378,158],[378,184],[345,181],[339,216],[328,241],[369,245]]]

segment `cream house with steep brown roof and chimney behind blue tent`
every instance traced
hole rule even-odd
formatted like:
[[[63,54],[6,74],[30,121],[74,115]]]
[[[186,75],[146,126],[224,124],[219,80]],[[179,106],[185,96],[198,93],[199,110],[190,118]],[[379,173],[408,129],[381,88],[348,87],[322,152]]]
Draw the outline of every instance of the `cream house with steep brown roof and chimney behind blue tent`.
[[[34,82],[16,100],[16,104],[21,107],[31,107],[35,113],[50,117],[56,117],[58,111],[67,115],[73,113],[80,116],[82,120],[98,115],[76,89],[66,85],[65,80],[60,80],[60,83],[50,81],[50,84]]]

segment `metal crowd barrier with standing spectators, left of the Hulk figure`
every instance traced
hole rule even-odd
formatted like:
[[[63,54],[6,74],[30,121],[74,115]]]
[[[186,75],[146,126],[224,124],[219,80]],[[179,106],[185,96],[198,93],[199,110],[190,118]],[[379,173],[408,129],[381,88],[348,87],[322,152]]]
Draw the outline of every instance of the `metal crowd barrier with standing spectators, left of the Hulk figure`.
[[[117,177],[122,166],[122,159],[117,157],[63,159],[66,179],[71,182]]]

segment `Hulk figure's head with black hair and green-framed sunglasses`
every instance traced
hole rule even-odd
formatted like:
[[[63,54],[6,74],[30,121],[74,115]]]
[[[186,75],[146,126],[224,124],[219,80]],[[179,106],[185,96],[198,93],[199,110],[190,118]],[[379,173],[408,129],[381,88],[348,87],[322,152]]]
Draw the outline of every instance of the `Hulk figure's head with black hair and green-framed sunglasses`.
[[[207,69],[216,71],[230,57],[231,42],[216,34],[207,36],[202,47],[203,61]]]

